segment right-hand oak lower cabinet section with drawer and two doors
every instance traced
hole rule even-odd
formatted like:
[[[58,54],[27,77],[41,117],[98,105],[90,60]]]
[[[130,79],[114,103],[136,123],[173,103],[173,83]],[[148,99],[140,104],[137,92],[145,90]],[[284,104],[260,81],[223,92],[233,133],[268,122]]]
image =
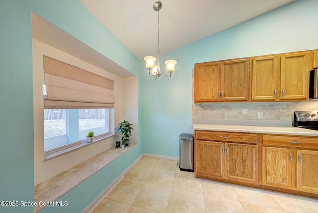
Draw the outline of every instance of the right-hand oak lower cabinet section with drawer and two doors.
[[[317,137],[263,135],[261,185],[318,197],[317,144]]]

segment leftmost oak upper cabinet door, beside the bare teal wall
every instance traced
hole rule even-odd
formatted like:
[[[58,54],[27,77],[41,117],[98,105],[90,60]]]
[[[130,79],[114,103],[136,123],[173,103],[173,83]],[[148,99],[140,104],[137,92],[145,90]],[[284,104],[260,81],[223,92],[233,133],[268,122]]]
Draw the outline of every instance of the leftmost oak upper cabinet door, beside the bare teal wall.
[[[219,100],[220,63],[195,64],[194,85],[195,102]]]

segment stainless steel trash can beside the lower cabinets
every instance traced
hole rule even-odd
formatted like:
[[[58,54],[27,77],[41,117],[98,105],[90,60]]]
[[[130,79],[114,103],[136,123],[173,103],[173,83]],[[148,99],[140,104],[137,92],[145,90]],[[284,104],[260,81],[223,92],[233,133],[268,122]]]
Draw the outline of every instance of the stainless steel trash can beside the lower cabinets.
[[[182,171],[194,172],[194,142],[192,134],[180,134],[180,162]]]

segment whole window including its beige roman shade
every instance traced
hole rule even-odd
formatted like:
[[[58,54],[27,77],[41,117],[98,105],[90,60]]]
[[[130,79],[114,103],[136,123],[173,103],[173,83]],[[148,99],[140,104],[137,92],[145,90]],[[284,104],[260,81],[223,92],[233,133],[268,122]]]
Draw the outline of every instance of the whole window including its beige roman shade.
[[[114,108],[114,81],[43,55],[45,158],[106,137]]]

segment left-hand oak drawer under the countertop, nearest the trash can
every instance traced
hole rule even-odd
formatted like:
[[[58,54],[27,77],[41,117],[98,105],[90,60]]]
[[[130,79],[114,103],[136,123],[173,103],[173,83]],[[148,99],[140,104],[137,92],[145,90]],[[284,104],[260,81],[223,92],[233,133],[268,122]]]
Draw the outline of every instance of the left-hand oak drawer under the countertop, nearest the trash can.
[[[195,138],[200,140],[257,144],[257,134],[251,133],[195,131]]]

